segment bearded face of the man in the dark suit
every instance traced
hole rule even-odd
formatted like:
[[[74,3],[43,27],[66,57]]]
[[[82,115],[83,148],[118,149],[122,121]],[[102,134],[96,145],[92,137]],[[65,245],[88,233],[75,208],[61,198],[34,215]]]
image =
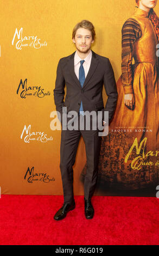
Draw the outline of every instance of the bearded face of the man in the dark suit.
[[[79,52],[87,53],[91,49],[92,40],[91,31],[86,28],[79,28],[73,38],[75,47]]]

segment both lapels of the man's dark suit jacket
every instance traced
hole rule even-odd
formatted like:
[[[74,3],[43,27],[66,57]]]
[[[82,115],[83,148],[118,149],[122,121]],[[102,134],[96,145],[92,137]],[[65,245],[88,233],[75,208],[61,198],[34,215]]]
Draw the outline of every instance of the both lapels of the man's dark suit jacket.
[[[74,53],[72,53],[72,55],[70,56],[69,60],[68,60],[68,69],[69,69],[69,72],[73,78],[73,80],[75,81],[75,83],[77,83],[77,85],[81,88],[81,84],[77,78],[77,76],[75,75],[75,72],[74,72]],[[82,88],[84,88],[86,86],[86,84],[90,81],[92,75],[94,74],[96,68],[97,68],[97,65],[99,63],[99,60],[96,56],[96,53],[92,51],[92,59],[91,59],[91,65],[90,65],[90,69],[88,71],[88,74],[86,76],[86,79],[85,79],[85,82],[84,82],[84,85]]]

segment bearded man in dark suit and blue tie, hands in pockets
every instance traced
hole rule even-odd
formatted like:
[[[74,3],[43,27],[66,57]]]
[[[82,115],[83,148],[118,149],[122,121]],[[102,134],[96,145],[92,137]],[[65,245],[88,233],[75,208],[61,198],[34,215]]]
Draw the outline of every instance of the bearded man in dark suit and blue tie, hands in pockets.
[[[109,121],[112,119],[117,102],[117,88],[112,66],[108,58],[99,56],[91,51],[94,42],[94,26],[90,21],[83,20],[73,29],[72,39],[77,50],[68,57],[61,58],[58,64],[54,89],[56,111],[63,117],[62,107],[69,111],[75,111],[75,118],[80,123],[84,120],[85,111],[102,111],[104,124],[104,112],[109,111]],[[64,87],[67,94],[64,99]],[[107,102],[104,108],[102,89],[103,84],[107,94]],[[58,116],[59,117],[59,116]],[[60,117],[59,117],[60,119]],[[62,126],[63,128],[63,126]],[[97,183],[98,157],[100,152],[99,130],[84,128],[77,130],[62,129],[60,147],[60,169],[63,186],[63,206],[56,212],[54,219],[62,220],[68,211],[75,208],[73,194],[73,165],[77,154],[80,136],[84,138],[87,157],[87,172],[84,182],[85,217],[92,218],[94,209],[91,197]]]

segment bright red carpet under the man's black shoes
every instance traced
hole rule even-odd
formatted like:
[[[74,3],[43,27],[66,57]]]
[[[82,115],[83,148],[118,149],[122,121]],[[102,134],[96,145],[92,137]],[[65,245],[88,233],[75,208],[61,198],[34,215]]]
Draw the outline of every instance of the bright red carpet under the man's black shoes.
[[[84,216],[84,197],[66,218],[53,216],[62,196],[12,196],[0,199],[1,245],[159,245],[159,199],[92,198],[94,218]]]

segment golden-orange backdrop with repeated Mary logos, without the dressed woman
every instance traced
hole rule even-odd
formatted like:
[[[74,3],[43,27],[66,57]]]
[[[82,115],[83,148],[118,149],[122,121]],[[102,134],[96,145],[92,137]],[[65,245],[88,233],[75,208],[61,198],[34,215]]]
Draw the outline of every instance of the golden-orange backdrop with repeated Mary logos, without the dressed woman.
[[[134,9],[135,0],[1,1],[3,194],[62,194],[61,131],[50,129],[57,64],[75,51],[72,29],[87,19],[97,34],[92,50],[110,59],[117,80],[121,74],[121,29]],[[159,4],[155,11],[159,13]],[[105,103],[104,91],[103,97]],[[85,162],[81,138],[74,165],[74,194],[84,194],[79,176]]]

